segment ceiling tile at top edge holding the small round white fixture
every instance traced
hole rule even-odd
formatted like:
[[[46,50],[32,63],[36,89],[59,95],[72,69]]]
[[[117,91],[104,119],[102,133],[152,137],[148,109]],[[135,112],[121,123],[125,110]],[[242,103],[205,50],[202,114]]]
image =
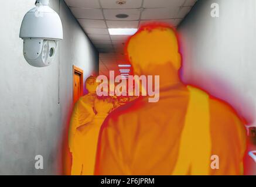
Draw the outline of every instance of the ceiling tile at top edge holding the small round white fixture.
[[[142,0],[127,0],[123,5],[118,5],[117,0],[100,0],[103,8],[109,9],[127,9],[127,8],[141,8]]]

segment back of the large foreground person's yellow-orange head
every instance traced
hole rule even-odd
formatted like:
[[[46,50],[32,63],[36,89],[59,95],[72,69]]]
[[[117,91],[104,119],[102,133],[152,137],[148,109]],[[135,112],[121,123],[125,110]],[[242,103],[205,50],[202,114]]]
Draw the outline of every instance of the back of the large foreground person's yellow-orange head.
[[[154,65],[170,63],[175,71],[181,67],[176,33],[172,27],[161,23],[142,26],[128,40],[127,54],[137,75]]]

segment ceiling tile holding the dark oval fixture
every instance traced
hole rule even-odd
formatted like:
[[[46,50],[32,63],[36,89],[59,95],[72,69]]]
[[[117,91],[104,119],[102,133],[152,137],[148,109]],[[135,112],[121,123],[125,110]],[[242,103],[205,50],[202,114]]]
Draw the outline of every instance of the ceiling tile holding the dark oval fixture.
[[[140,11],[138,9],[104,9],[105,19],[108,20],[138,20]],[[128,18],[117,18],[118,14],[127,14]]]

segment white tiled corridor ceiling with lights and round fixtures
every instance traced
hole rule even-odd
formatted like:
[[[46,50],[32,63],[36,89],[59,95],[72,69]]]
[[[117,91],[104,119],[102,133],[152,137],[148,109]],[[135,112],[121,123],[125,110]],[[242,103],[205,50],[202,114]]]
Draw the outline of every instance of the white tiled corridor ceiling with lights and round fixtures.
[[[100,52],[100,71],[125,63],[124,43],[129,36],[110,35],[109,28],[139,28],[158,21],[178,26],[197,0],[65,0],[81,27]],[[125,2],[120,5],[118,2]],[[127,18],[117,18],[125,14]]]

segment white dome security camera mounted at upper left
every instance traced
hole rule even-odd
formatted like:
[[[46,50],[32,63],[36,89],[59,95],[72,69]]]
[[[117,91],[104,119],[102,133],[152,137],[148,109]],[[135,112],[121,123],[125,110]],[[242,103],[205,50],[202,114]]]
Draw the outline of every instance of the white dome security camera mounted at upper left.
[[[37,0],[22,20],[20,36],[23,55],[34,67],[46,67],[56,57],[59,41],[63,39],[62,21],[49,7],[49,0]]]

